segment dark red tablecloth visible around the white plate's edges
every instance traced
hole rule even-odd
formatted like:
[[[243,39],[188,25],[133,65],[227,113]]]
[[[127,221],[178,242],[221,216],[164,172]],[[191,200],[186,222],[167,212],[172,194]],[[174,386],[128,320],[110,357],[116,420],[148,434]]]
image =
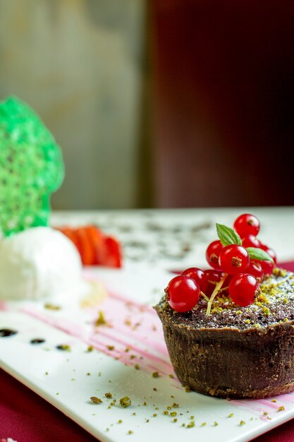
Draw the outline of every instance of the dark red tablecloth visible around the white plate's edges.
[[[294,271],[294,262],[283,263]],[[71,419],[33,393],[29,388],[0,370],[0,438],[18,442],[94,442]],[[293,442],[294,419],[278,426],[255,442]]]

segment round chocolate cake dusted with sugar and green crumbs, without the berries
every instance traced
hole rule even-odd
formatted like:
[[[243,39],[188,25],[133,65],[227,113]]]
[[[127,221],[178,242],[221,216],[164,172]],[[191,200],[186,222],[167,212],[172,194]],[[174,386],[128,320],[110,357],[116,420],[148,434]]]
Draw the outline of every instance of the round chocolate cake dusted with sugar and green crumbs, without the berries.
[[[247,307],[219,295],[209,316],[204,299],[187,313],[165,297],[154,307],[183,386],[219,398],[294,390],[294,274],[276,268],[260,289]]]

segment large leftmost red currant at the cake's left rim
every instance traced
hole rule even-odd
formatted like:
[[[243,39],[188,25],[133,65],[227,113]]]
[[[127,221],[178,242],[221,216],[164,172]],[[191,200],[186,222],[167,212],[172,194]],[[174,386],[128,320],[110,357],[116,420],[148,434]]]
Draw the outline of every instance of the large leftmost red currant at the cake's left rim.
[[[200,287],[191,277],[178,275],[169,282],[165,292],[171,308],[184,312],[193,309],[199,301]]]

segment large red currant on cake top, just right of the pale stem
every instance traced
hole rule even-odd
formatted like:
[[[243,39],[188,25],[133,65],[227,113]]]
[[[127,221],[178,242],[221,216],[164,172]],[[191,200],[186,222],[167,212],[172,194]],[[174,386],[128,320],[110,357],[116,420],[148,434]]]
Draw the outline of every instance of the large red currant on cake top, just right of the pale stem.
[[[257,279],[249,273],[235,275],[228,286],[228,292],[238,306],[249,306],[255,300],[259,289]]]

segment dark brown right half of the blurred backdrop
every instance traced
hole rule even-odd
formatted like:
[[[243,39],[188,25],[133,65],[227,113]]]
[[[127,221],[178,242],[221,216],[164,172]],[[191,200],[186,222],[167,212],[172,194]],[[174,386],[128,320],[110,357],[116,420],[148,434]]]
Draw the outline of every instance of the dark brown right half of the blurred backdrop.
[[[154,204],[294,204],[294,7],[151,8]]]

